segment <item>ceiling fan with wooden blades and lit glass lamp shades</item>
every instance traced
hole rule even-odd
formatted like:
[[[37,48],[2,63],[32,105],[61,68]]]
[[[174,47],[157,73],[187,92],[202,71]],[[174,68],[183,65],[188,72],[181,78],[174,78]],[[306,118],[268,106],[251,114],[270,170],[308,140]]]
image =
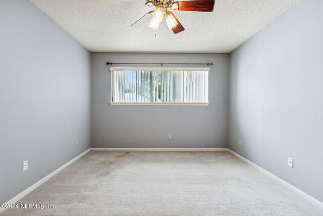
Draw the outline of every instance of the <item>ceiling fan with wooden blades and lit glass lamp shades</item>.
[[[175,15],[171,11],[169,11],[170,9],[173,9],[175,11],[212,12],[214,7],[214,0],[195,0],[180,2],[174,2],[174,0],[153,0],[146,1],[145,5],[149,7],[155,7],[156,9],[149,11],[131,26],[139,28],[151,19],[149,27],[155,31],[156,36],[156,31],[159,27],[159,23],[163,21],[164,17],[166,19],[168,28],[172,29],[175,34],[185,30],[185,28],[178,21]]]

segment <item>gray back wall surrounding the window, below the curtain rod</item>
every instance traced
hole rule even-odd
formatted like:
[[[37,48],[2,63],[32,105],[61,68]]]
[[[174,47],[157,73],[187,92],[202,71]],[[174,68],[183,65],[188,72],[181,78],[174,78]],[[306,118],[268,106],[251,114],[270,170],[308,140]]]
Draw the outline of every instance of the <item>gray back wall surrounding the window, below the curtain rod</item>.
[[[225,148],[227,146],[228,54],[92,53],[91,146]],[[209,106],[111,106],[110,62],[214,63]],[[167,67],[167,66],[166,66]],[[172,140],[168,140],[172,134]]]

